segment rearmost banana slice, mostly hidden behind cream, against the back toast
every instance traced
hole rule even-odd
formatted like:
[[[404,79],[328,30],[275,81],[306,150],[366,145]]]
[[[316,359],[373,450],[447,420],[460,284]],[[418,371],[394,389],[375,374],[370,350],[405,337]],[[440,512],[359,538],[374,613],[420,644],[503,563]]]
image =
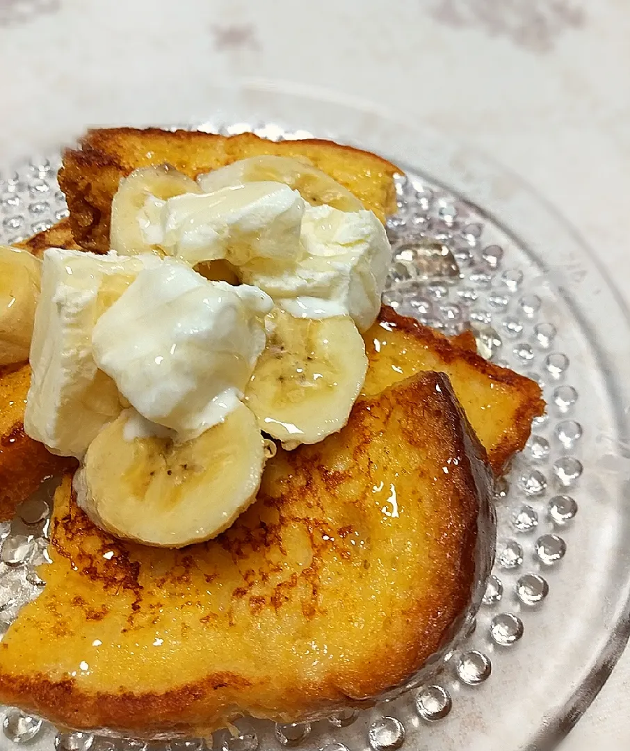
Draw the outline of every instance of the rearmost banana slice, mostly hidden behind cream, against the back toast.
[[[312,206],[327,204],[342,211],[360,211],[365,208],[355,195],[330,175],[312,164],[289,156],[252,156],[197,177],[204,193],[212,193],[228,185],[267,180],[284,182],[291,189],[297,190],[304,201]]]

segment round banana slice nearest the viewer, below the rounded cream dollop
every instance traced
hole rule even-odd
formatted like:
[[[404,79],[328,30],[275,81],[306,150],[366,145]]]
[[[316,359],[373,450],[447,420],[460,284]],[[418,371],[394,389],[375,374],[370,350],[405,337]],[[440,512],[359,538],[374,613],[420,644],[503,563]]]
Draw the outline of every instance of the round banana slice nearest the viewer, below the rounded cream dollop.
[[[215,537],[245,511],[264,463],[261,431],[243,404],[179,445],[128,409],[92,442],[74,487],[80,507],[116,537],[184,547]]]

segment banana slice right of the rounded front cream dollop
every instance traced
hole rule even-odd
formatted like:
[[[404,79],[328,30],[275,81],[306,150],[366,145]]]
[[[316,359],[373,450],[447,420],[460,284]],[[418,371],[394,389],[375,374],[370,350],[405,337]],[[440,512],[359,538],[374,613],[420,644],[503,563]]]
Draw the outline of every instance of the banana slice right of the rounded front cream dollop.
[[[367,357],[349,315],[267,317],[267,348],[246,388],[246,404],[283,448],[318,443],[348,422],[363,386]]]

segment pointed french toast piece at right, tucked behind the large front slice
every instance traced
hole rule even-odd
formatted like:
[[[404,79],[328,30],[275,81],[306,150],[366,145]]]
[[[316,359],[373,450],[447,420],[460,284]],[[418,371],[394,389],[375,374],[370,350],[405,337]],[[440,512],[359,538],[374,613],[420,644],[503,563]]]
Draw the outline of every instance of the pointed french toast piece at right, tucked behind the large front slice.
[[[466,345],[461,348],[436,330],[383,307],[363,338],[369,358],[363,394],[378,394],[417,372],[446,373],[497,475],[526,444],[532,419],[544,412],[538,384],[484,360],[472,351],[469,337],[460,339]]]

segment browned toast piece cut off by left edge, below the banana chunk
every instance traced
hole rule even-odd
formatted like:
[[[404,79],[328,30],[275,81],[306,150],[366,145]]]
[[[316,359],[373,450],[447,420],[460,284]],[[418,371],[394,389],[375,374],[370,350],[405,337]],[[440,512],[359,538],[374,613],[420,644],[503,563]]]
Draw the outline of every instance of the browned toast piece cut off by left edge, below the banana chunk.
[[[47,477],[76,466],[74,459],[50,454],[24,433],[30,380],[28,363],[0,369],[0,521],[11,519],[17,505]]]

